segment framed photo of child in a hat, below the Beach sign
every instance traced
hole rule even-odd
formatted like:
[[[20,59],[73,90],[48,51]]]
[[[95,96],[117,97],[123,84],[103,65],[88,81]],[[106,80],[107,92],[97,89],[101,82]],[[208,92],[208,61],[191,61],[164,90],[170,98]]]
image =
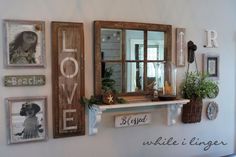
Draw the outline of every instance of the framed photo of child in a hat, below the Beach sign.
[[[47,139],[47,98],[7,98],[8,144]]]

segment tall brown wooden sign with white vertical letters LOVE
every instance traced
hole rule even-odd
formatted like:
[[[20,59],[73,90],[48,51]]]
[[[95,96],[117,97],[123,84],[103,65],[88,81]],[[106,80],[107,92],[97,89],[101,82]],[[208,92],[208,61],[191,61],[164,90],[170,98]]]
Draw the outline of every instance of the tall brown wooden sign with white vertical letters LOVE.
[[[85,134],[82,23],[52,22],[54,138]]]

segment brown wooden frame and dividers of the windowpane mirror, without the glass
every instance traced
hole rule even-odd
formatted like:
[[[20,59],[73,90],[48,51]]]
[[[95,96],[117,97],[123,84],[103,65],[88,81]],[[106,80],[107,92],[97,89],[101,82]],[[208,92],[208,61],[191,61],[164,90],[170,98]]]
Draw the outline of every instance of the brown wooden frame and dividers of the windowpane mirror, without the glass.
[[[120,96],[128,96],[128,95],[144,95],[146,92],[147,85],[147,32],[148,31],[161,31],[164,32],[164,60],[171,61],[172,51],[172,26],[171,25],[163,25],[163,24],[149,24],[149,23],[136,23],[136,22],[120,22],[120,21],[95,21],[94,22],[94,38],[95,38],[95,46],[94,46],[94,94],[101,95],[102,94],[102,75],[101,75],[101,29],[109,28],[109,29],[121,29],[122,30],[122,64],[125,64],[125,30],[143,30],[144,31],[144,91],[143,92],[131,92],[119,94]],[[132,62],[132,61],[131,61]],[[138,61],[134,61],[138,62]],[[152,62],[152,61],[148,61]],[[156,62],[156,61],[154,61]],[[122,66],[122,72],[124,72],[124,66]],[[122,76],[122,80],[124,80],[124,75]],[[122,81],[123,82],[123,81]],[[123,85],[124,86],[124,83]],[[123,87],[122,87],[123,88]],[[124,89],[124,88],[123,88]]]

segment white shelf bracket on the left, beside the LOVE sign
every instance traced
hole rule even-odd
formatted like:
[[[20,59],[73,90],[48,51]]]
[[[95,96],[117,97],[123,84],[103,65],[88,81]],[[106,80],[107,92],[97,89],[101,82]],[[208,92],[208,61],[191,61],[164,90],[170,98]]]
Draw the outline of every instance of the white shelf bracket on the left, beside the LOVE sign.
[[[92,105],[89,109],[89,135],[98,133],[98,126],[102,120],[102,110],[97,105]]]

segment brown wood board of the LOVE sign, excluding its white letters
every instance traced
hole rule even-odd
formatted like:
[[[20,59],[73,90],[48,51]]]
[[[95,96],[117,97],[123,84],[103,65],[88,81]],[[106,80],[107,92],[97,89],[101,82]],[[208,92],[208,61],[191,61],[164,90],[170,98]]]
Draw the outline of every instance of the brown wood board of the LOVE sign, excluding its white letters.
[[[85,134],[85,107],[80,103],[80,99],[82,96],[84,96],[84,31],[83,31],[83,24],[82,23],[70,23],[70,22],[52,22],[51,24],[52,29],[52,93],[53,93],[53,136],[54,138],[60,138],[60,137],[69,137],[69,136],[79,136]],[[66,46],[67,50],[77,50],[76,52],[66,54],[72,58],[74,58],[73,62],[77,62],[78,66],[78,74],[74,77],[70,78],[63,78],[60,65],[62,64],[62,57],[60,56],[60,53],[64,52],[60,49],[60,45],[63,38],[63,30],[70,30],[72,29],[72,33],[70,32],[70,36],[68,37],[68,40],[70,42],[67,42],[69,46]],[[60,33],[61,31],[61,33]],[[69,33],[68,33],[69,34]],[[66,38],[66,37],[65,37]],[[66,38],[67,39],[67,38]],[[72,49],[73,48],[73,49]],[[68,56],[65,56],[65,58],[68,58]],[[65,64],[66,65],[66,64]],[[76,64],[75,64],[76,65]],[[73,69],[76,72],[76,66],[75,69]],[[71,66],[64,66],[63,69],[65,73],[70,73],[71,71],[67,71],[68,68],[71,68]],[[74,72],[74,73],[75,73]],[[73,73],[73,74],[74,74]],[[72,75],[69,75],[72,76]],[[69,104],[66,104],[68,102],[68,95],[63,95],[64,91],[61,85],[62,80],[64,80],[64,91],[68,93],[71,93],[70,90],[74,90],[70,87],[73,81],[78,84],[78,88],[75,88],[74,95],[72,96],[72,101]],[[72,83],[71,83],[72,82]],[[67,85],[70,85],[70,87],[65,87]],[[73,84],[74,85],[74,84]],[[77,86],[76,86],[77,87]],[[66,88],[66,89],[65,89]],[[72,91],[73,93],[73,91]],[[67,99],[66,99],[67,98]],[[75,114],[70,113],[69,118],[73,119],[75,121],[75,124],[77,128],[64,130],[62,132],[62,124],[63,123],[63,115],[64,115],[64,109],[65,110],[75,110]],[[63,114],[62,114],[63,112]],[[73,117],[72,117],[73,116]],[[65,118],[65,117],[64,117]],[[72,120],[71,120],[72,121]],[[65,121],[64,121],[65,122]],[[72,125],[70,123],[70,125]]]

